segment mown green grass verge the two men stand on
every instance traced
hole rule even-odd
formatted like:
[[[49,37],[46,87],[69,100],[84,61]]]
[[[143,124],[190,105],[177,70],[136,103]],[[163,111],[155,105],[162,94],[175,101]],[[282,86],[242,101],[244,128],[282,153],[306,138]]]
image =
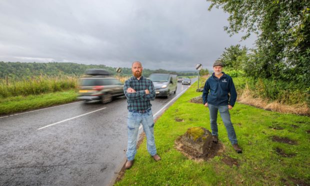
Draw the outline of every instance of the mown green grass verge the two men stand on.
[[[162,160],[155,162],[143,140],[133,166],[116,185],[289,185],[310,184],[310,118],[283,114],[236,103],[230,111],[242,154],[236,153],[218,117],[219,140],[225,146],[222,156],[204,162],[187,159],[174,148],[174,140],[187,128],[202,126],[210,130],[208,109],[188,102],[201,92],[194,83],[156,121],[154,134]],[[183,122],[175,118],[184,119]],[[272,129],[283,128],[283,129]],[[297,144],[274,142],[271,136],[288,137]],[[278,155],[281,148],[292,157]],[[236,158],[238,166],[228,166],[223,156]]]

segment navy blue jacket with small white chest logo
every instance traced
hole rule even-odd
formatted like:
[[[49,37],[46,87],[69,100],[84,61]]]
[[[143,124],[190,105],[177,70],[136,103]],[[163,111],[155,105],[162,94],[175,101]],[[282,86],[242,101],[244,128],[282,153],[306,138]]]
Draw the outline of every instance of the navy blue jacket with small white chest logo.
[[[217,78],[213,72],[205,81],[202,93],[203,104],[207,102],[216,106],[234,105],[237,99],[237,92],[235,91],[232,78],[224,72],[222,73],[223,75]]]

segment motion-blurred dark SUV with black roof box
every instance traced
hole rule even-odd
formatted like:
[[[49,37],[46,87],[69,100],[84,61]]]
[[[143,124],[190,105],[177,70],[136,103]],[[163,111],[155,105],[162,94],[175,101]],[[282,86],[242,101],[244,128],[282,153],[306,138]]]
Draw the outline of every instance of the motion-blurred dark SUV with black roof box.
[[[123,86],[118,79],[109,75],[88,75],[80,79],[77,99],[101,100],[102,103],[107,103],[113,97],[124,95]]]

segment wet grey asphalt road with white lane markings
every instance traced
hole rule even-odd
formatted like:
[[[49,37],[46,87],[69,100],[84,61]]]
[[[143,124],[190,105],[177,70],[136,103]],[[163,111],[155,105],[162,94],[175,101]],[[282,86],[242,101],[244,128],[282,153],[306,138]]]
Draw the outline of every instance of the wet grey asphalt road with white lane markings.
[[[187,88],[151,101],[154,118]],[[0,185],[113,183],[126,159],[126,116],[124,96],[0,116]]]

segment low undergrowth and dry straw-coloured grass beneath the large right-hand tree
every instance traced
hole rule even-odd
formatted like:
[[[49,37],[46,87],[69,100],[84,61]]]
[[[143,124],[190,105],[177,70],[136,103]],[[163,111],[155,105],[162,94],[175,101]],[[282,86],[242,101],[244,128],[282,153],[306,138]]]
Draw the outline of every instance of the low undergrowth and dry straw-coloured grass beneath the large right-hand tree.
[[[266,110],[310,116],[310,92],[300,84],[283,80],[253,78],[241,70],[227,70],[233,77],[237,101]]]

